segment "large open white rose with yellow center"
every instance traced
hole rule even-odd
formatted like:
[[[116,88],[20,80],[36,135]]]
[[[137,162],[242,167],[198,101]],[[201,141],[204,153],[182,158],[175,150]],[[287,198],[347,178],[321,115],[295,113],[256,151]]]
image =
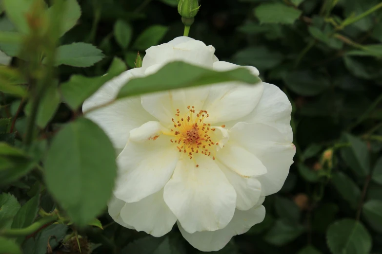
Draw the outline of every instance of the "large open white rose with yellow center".
[[[214,52],[189,37],[151,47],[141,68],[107,82],[83,110],[111,101],[128,80],[170,61],[217,71],[239,67]],[[119,151],[110,216],[152,236],[165,235],[177,222],[195,248],[220,250],[260,223],[264,197],[281,189],[295,154],[291,110],[274,85],[229,82],[127,98],[91,111],[87,117]]]

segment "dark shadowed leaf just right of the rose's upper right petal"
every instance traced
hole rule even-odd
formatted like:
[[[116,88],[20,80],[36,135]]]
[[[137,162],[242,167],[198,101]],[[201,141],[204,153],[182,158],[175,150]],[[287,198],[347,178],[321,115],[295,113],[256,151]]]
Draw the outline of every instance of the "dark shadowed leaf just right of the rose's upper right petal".
[[[330,87],[330,81],[321,73],[313,71],[293,71],[284,76],[285,85],[303,96],[314,96]]]

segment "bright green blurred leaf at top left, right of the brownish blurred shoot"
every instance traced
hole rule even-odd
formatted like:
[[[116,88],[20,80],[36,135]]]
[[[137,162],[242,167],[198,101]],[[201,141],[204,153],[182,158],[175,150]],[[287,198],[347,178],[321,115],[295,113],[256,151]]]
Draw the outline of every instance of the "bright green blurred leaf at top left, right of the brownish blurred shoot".
[[[61,22],[61,36],[72,29],[81,17],[81,7],[77,0],[65,0],[65,3],[65,13]],[[51,16],[52,10],[52,7],[48,9],[48,17]]]

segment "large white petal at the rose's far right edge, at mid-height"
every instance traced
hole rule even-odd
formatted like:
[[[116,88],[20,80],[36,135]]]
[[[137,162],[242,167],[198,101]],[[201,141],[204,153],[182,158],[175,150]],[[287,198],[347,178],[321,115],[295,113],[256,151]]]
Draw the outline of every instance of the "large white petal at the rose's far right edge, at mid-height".
[[[250,151],[266,167],[267,173],[258,178],[261,196],[271,195],[281,189],[296,153],[295,146],[282,133],[268,125],[241,122],[230,130],[230,142]]]

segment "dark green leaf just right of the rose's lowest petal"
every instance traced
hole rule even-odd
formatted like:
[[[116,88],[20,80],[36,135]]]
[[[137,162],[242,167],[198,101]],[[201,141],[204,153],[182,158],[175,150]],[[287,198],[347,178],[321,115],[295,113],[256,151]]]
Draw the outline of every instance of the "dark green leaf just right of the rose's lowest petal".
[[[305,231],[301,225],[291,225],[279,219],[266,233],[264,240],[276,246],[282,246],[293,241]]]

